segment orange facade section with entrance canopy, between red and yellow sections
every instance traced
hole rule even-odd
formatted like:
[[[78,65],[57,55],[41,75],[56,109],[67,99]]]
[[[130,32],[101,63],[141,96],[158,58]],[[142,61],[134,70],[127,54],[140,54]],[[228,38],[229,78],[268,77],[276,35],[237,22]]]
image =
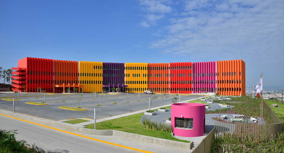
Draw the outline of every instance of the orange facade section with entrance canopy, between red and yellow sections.
[[[66,60],[54,60],[54,85],[55,92],[64,93],[67,88],[73,90],[79,85],[78,62]],[[64,84],[64,86],[63,86]],[[72,86],[72,87],[71,87]]]

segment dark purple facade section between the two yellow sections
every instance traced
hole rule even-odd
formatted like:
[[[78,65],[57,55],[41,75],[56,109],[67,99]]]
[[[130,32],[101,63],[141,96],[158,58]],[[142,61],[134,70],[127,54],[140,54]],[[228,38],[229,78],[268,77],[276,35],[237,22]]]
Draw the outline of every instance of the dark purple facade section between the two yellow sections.
[[[121,88],[124,92],[124,63],[102,63],[102,82],[109,92],[111,88]]]

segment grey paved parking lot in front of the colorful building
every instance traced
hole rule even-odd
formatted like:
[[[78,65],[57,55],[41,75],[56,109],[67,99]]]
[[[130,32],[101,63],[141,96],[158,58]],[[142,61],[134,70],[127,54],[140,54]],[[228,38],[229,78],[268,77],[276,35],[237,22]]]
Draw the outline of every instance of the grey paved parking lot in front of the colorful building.
[[[42,117],[49,120],[59,121],[69,118],[94,118],[94,108],[96,108],[96,119],[102,119],[106,117],[126,114],[130,112],[135,112],[139,110],[145,110],[149,108],[149,97],[157,97],[152,99],[153,107],[160,107],[162,105],[172,104],[172,99],[177,97],[177,102],[179,102],[179,96],[176,94],[166,94],[163,96],[161,94],[141,94],[138,93],[128,93],[127,94],[95,94],[84,93],[80,98],[79,94],[45,94],[45,103],[48,105],[34,105],[27,104],[26,102],[38,102],[44,101],[43,94],[28,93],[24,95],[19,94],[19,101],[15,101],[15,112],[21,114],[27,114],[35,117]],[[169,96],[169,97],[168,97]],[[13,111],[13,101],[2,100],[2,98],[18,98],[18,93],[10,94],[0,94],[0,109]],[[36,98],[38,97],[38,98]],[[100,98],[99,98],[100,97]],[[140,100],[139,100],[140,97]],[[202,97],[202,95],[197,95],[197,97]],[[64,98],[65,101],[62,101]],[[99,99],[101,100],[101,106],[96,106],[99,104]],[[180,101],[186,101],[190,99],[195,99],[195,95],[180,95]],[[139,100],[139,101],[138,101]],[[129,101],[129,102],[127,102]],[[113,104],[117,103],[117,104]],[[78,110],[67,110],[61,109],[60,106],[67,107],[80,107],[88,109],[84,111]]]

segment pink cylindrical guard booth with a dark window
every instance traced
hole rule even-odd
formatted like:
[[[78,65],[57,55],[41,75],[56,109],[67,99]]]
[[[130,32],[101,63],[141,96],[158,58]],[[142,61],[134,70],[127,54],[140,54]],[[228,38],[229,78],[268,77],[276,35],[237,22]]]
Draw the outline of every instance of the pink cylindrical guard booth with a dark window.
[[[182,137],[200,137],[205,133],[205,104],[171,104],[173,134]]]

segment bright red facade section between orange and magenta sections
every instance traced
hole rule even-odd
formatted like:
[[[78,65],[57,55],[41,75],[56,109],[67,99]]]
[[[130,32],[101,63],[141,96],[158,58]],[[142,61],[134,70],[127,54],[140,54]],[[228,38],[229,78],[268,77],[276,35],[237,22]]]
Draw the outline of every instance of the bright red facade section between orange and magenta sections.
[[[192,63],[170,63],[169,66],[171,93],[192,94]]]

